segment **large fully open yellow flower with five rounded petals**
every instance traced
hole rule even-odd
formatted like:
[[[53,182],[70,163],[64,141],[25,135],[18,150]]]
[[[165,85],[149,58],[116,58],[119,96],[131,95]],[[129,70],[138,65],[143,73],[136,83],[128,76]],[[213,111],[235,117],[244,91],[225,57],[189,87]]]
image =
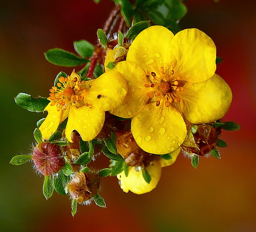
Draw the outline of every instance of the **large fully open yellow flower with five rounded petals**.
[[[197,29],[174,36],[163,26],[151,26],[113,70],[125,77],[128,93],[110,112],[133,117],[132,134],[148,153],[174,151],[187,134],[184,118],[194,124],[214,122],[232,100],[230,87],[215,74],[216,46]]]

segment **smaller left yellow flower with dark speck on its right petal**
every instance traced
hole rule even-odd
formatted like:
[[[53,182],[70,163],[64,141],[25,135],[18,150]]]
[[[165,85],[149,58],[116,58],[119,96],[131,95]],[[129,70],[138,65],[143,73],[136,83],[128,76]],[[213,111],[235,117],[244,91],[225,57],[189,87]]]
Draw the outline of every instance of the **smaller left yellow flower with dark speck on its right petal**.
[[[48,100],[51,102],[45,108],[48,115],[39,127],[44,139],[68,117],[65,133],[69,142],[72,142],[73,130],[77,130],[84,141],[92,140],[103,127],[105,111],[120,105],[127,93],[125,79],[117,71],[86,82],[73,71],[71,76],[59,77],[57,85],[59,88],[50,89]]]

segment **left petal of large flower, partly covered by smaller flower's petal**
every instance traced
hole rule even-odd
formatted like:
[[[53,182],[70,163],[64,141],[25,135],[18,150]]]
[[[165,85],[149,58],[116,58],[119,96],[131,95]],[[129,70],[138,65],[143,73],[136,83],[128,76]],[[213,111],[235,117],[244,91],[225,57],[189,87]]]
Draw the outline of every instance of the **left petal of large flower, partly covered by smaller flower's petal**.
[[[145,72],[135,63],[123,61],[115,66],[115,71],[120,72],[127,82],[128,92],[123,103],[117,108],[110,110],[113,115],[130,118],[138,114],[149,100],[146,95],[151,85]]]

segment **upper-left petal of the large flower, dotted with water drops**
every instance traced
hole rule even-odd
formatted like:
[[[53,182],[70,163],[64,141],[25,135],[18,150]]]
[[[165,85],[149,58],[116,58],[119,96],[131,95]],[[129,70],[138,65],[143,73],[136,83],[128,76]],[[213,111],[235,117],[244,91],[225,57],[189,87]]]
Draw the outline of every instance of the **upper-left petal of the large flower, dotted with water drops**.
[[[167,70],[171,64],[170,44],[173,36],[164,26],[145,29],[131,43],[126,60],[138,64],[147,75],[155,72],[160,77],[160,67]]]

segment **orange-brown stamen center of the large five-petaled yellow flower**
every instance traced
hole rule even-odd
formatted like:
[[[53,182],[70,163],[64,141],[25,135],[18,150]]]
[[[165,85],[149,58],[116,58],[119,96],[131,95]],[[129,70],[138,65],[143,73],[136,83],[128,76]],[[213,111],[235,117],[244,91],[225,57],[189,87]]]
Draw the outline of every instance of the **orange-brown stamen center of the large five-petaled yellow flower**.
[[[181,77],[174,78],[174,70],[164,71],[163,67],[160,67],[160,76],[155,72],[151,72],[150,79],[152,79],[154,84],[145,84],[145,87],[154,88],[147,95],[150,98],[155,98],[156,105],[160,105],[160,101],[164,99],[164,105],[168,107],[171,103],[180,102],[180,98],[177,92],[184,91],[185,81],[181,80]]]

